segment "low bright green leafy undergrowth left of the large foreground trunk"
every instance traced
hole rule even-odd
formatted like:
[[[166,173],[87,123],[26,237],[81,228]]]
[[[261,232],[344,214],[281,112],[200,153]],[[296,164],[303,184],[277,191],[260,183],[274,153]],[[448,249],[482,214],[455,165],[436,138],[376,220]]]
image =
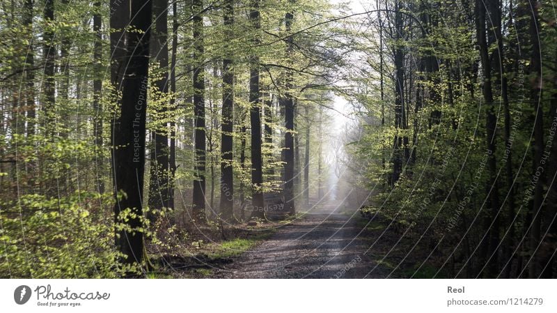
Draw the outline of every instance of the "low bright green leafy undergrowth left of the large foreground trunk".
[[[118,277],[112,204],[111,194],[91,192],[0,204],[0,277]]]

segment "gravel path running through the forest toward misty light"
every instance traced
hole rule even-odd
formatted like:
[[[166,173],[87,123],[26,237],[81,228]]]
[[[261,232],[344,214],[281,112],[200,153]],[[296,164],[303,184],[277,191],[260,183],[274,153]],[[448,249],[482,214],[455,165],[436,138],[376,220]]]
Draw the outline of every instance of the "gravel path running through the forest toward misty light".
[[[341,211],[342,210],[342,211]],[[267,241],[214,273],[223,278],[363,278],[377,265],[359,213],[324,204],[279,227]],[[368,278],[385,277],[377,266]]]

